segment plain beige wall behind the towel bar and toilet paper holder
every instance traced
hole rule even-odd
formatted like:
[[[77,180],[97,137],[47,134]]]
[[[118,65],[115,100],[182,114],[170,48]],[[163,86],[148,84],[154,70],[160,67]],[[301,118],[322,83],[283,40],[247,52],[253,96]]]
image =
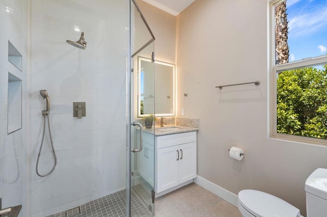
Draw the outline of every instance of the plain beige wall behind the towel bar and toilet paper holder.
[[[305,180],[327,147],[268,138],[267,1],[201,0],[177,16],[178,116],[199,118],[198,175],[271,193],[306,215]],[[260,80],[261,85],[215,88]],[[229,158],[243,148],[242,161]]]

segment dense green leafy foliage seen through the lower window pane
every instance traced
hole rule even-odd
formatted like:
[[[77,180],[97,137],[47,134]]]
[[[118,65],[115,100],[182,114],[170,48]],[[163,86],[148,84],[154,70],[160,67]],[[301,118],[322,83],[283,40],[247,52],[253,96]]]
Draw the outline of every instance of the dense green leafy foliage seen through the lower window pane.
[[[277,132],[327,139],[327,66],[277,75]]]

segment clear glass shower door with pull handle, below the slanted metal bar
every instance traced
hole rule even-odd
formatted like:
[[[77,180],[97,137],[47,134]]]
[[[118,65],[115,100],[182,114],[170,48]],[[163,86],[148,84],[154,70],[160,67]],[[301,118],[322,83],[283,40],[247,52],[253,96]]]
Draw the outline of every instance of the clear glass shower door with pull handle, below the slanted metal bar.
[[[153,43],[135,59],[137,70],[134,69],[135,94],[133,119],[131,128],[131,216],[133,210],[138,210],[140,204],[133,203],[133,197],[141,198],[146,208],[142,216],[154,213],[154,63],[143,62],[141,59],[152,55]],[[142,58],[141,58],[142,55]],[[146,63],[146,64],[144,64]],[[141,65],[142,64],[142,65]],[[150,119],[150,126],[146,126],[145,119]]]

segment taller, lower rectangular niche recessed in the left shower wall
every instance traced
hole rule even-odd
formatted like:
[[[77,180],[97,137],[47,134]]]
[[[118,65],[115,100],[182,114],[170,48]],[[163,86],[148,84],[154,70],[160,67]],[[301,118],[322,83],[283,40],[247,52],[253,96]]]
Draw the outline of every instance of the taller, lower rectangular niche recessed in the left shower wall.
[[[21,129],[21,79],[8,72],[8,134]]]

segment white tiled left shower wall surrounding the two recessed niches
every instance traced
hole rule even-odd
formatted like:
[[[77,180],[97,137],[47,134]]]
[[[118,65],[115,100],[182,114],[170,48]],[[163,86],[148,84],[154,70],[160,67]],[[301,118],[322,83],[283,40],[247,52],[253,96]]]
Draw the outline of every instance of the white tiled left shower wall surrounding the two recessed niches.
[[[21,216],[26,216],[28,211],[27,17],[27,1],[0,1],[0,197],[3,208],[22,204]],[[8,61],[8,40],[22,55],[22,71]],[[22,80],[22,128],[11,134],[7,131],[8,72]],[[17,116],[19,117],[20,114]]]

